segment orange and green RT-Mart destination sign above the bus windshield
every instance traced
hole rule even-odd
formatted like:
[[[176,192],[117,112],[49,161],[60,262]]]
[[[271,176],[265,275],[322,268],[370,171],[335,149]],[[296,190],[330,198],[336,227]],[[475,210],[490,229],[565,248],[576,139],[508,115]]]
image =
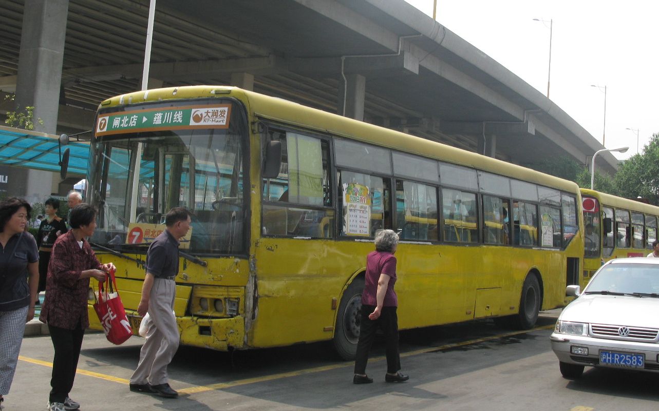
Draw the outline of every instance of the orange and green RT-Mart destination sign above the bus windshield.
[[[96,135],[182,128],[229,128],[230,104],[190,105],[102,114]]]

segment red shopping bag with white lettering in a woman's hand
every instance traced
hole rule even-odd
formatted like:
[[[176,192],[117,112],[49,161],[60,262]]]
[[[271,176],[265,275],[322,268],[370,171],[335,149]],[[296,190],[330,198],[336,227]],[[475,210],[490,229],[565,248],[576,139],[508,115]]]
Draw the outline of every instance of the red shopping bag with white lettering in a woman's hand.
[[[107,281],[107,288],[103,287],[105,283],[98,283],[98,298],[94,294],[96,298],[94,310],[101,321],[107,341],[119,345],[130,338],[132,329],[117,291],[117,280],[115,280],[114,271],[107,275],[105,281]]]

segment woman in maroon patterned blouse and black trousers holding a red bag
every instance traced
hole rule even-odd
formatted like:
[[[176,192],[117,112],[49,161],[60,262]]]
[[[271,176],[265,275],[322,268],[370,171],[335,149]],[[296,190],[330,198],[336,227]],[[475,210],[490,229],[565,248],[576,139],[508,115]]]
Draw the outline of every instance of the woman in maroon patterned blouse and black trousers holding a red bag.
[[[96,229],[96,209],[76,205],[71,211],[71,231],[57,238],[48,265],[45,299],[40,320],[48,325],[55,348],[52,387],[47,409],[76,410],[80,404],[69,397],[78,368],[84,330],[89,326],[89,281],[105,281],[113,263],[101,264],[86,237]]]

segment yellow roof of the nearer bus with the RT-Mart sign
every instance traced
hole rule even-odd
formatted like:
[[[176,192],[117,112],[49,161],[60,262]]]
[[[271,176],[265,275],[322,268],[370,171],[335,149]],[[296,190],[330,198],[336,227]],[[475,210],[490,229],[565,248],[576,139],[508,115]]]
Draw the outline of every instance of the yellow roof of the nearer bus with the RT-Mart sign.
[[[281,123],[304,126],[319,132],[327,132],[334,136],[343,136],[366,143],[385,146],[464,165],[474,167],[490,173],[496,173],[507,177],[519,178],[521,180],[534,182],[544,186],[557,188],[566,192],[577,194],[579,186],[575,182],[564,180],[540,173],[520,165],[507,163],[499,159],[447,146],[439,142],[433,142],[421,137],[411,136],[403,132],[364,123],[355,119],[349,119],[327,111],[307,107],[299,103],[293,103],[278,97],[266,96],[256,92],[250,92],[231,86],[183,86],[173,88],[160,88],[123,94],[111,97],[101,102],[99,109],[116,107],[125,104],[146,103],[162,101],[167,99],[192,99],[192,98],[218,98],[235,97],[246,105],[258,117],[279,121]]]

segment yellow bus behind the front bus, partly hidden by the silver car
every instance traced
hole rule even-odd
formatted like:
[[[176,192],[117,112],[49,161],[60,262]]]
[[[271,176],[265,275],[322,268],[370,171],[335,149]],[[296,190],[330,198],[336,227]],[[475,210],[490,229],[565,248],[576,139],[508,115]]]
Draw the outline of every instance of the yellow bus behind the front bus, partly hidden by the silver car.
[[[582,288],[608,260],[645,257],[657,238],[659,207],[581,188],[584,234]]]

